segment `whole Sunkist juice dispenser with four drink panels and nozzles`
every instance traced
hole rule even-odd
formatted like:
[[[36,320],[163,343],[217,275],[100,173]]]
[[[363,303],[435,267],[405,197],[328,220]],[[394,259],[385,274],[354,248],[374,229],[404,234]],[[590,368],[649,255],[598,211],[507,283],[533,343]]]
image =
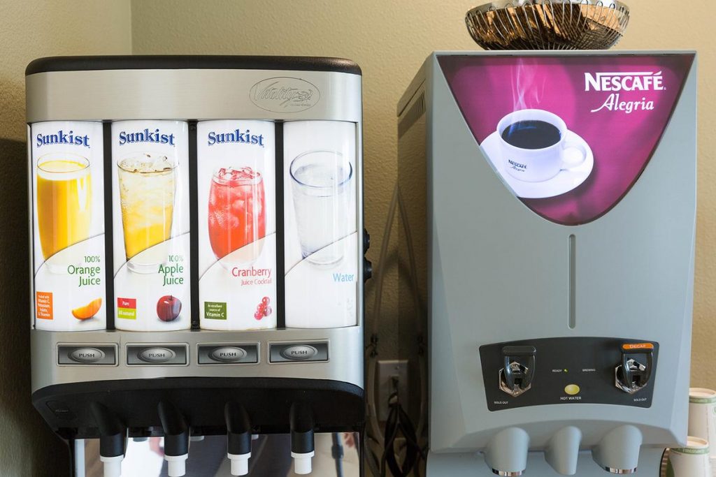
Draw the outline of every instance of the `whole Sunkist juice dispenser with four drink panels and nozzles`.
[[[361,432],[361,72],[344,59],[102,56],[26,70],[32,402],[61,438]],[[288,452],[288,451],[287,451]]]

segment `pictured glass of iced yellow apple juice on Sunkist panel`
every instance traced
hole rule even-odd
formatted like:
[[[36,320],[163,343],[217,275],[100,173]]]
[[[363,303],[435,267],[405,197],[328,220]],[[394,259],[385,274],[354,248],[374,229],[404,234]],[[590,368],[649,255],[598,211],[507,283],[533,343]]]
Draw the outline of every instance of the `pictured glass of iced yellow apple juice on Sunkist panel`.
[[[174,214],[175,164],[160,154],[134,154],[117,162],[127,266],[157,272],[167,260]]]

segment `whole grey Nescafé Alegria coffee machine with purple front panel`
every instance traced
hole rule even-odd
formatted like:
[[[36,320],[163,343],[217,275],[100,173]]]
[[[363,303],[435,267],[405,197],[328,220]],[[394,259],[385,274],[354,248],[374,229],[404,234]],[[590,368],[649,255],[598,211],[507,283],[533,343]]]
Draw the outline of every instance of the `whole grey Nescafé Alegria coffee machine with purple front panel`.
[[[398,106],[418,278],[400,304],[417,363],[427,297],[427,475],[657,476],[686,441],[695,69],[688,51],[422,65]]]

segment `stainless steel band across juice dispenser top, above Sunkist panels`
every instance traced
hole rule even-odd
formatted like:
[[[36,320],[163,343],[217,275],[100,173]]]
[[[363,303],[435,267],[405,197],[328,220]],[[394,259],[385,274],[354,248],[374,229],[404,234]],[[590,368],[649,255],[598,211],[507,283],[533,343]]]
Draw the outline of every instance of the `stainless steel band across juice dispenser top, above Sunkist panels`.
[[[306,109],[256,99],[266,80],[310,84]],[[298,82],[298,83],[296,83]],[[303,83],[301,83],[303,82]],[[269,82],[268,84],[273,84]],[[27,122],[117,119],[325,119],[359,122],[361,77],[252,69],[115,69],[26,77]],[[253,99],[253,100],[252,100]],[[258,104],[257,104],[258,103]]]

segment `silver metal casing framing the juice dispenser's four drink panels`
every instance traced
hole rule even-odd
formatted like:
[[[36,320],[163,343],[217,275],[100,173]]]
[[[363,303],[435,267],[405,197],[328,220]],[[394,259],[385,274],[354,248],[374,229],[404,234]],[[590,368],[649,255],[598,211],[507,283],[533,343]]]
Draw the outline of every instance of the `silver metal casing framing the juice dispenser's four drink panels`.
[[[138,57],[141,58],[141,57]],[[200,58],[200,57],[198,57]],[[319,100],[303,110],[272,108],[251,100],[251,88],[266,79],[302,79]],[[137,92],[137,85],[141,94]],[[362,185],[362,81],[359,74],[330,71],[232,69],[227,67],[157,69],[85,69],[29,74],[26,78],[27,122],[112,121],[122,119],[269,119],[331,120],[357,125],[357,183]],[[362,187],[357,187],[357,230],[363,230]],[[31,205],[32,206],[32,205]],[[32,227],[32,222],[30,223]],[[32,230],[32,228],[31,228]],[[363,235],[354,260],[363,262]],[[31,257],[32,262],[32,257]],[[32,275],[32,274],[31,274]],[[330,329],[250,331],[185,330],[127,332],[99,330],[52,332],[32,330],[32,391],[50,385],[180,377],[305,378],[334,380],[359,388],[363,381],[363,267],[358,267],[357,326]],[[31,305],[31,310],[34,305]],[[320,360],[271,360],[272,345],[324,343]],[[257,359],[251,363],[200,364],[200,346],[249,345]],[[116,346],[114,363],[68,364],[61,346]],[[178,346],[184,363],[133,363],[130,345]],[[325,349],[325,348],[322,348]],[[132,364],[133,363],[133,364]]]

